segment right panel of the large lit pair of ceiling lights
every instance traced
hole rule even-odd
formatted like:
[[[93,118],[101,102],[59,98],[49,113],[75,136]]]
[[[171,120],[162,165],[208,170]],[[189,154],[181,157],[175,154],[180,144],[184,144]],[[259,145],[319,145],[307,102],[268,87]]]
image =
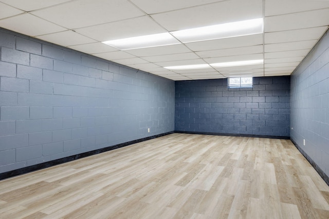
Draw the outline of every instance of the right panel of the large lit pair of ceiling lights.
[[[183,43],[263,33],[263,18],[171,32]]]

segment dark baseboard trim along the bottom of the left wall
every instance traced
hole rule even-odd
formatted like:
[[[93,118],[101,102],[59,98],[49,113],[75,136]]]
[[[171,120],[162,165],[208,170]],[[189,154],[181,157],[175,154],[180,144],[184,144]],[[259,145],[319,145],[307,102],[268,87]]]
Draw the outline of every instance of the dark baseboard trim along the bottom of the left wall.
[[[166,132],[166,133],[162,133],[162,134],[157,134],[157,135],[153,135],[153,136],[150,136],[150,137],[144,137],[144,138],[140,138],[138,140],[125,142],[125,143],[121,143],[121,144],[118,144],[118,145],[109,146],[109,147],[106,147],[106,148],[101,148],[101,149],[97,149],[97,150],[93,150],[93,151],[88,151],[88,152],[85,152],[85,153],[80,153],[80,154],[76,154],[76,155],[72,155],[72,156],[68,156],[68,157],[63,157],[63,158],[60,158],[60,159],[57,159],[57,160],[54,160],[54,161],[48,161],[48,162],[45,162],[45,163],[35,164],[35,165],[32,165],[32,166],[23,167],[23,168],[20,168],[20,169],[0,173],[0,180],[4,180],[5,178],[9,178],[9,177],[13,177],[13,176],[33,172],[33,171],[36,171],[36,170],[45,169],[45,168],[56,166],[56,165],[59,165],[59,164],[64,164],[64,163],[67,163],[67,162],[70,162],[70,161],[75,161],[75,160],[78,160],[78,159],[83,158],[83,157],[92,156],[92,155],[103,153],[103,152],[106,152],[106,151],[111,151],[111,150],[114,150],[114,149],[117,149],[117,148],[122,148],[122,147],[125,147],[125,146],[128,146],[128,145],[133,145],[133,144],[136,144],[136,143],[148,141],[148,140],[151,140],[153,138],[165,136],[165,135],[172,134],[172,133],[174,133],[174,131]]]

